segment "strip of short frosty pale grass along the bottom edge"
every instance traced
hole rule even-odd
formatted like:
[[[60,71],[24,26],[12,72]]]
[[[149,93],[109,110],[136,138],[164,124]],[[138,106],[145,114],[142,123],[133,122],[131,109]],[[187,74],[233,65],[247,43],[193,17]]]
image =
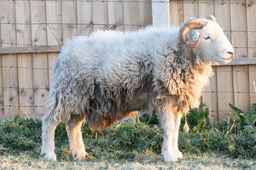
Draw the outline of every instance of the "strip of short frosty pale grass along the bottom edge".
[[[159,154],[148,152],[134,160],[50,162],[26,154],[4,155],[0,157],[0,169],[256,169],[256,160],[231,159],[218,154],[184,154],[178,162],[164,162]]]

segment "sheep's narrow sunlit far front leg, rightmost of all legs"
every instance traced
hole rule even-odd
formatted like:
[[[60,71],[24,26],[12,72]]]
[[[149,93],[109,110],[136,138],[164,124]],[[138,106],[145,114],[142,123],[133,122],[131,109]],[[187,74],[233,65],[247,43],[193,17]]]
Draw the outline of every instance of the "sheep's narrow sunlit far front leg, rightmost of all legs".
[[[174,154],[176,154],[176,157],[178,159],[182,158],[182,153],[178,150],[178,129],[181,125],[181,113],[177,112],[177,108],[174,108],[174,139],[173,139],[173,149],[174,149]]]

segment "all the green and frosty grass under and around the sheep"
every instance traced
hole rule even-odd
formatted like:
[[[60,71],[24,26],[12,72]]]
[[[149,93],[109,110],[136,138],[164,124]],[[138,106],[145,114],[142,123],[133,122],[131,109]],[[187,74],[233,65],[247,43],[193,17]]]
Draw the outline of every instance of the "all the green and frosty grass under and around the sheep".
[[[114,125],[106,132],[91,132],[85,124],[83,140],[89,153],[85,162],[73,161],[65,124],[55,132],[58,162],[40,156],[41,120],[15,119],[0,125],[0,169],[256,169],[256,130],[234,133],[196,126],[181,130],[183,159],[164,162],[163,133],[151,118],[141,124]],[[155,121],[156,123],[157,121]],[[200,122],[200,121],[199,121]]]

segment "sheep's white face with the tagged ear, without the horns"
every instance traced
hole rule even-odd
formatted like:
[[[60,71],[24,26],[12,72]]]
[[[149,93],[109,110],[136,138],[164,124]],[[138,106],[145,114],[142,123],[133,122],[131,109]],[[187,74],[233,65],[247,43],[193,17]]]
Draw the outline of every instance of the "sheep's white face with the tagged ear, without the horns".
[[[227,64],[233,58],[233,47],[228,38],[223,33],[215,21],[207,20],[207,25],[201,29],[190,30],[188,32],[192,40],[200,39],[194,52],[203,56],[206,62],[223,62]]]

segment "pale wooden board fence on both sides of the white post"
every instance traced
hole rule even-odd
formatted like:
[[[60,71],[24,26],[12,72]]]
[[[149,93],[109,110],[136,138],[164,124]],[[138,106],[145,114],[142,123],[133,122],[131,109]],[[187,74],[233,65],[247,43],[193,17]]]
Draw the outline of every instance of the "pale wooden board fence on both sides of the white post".
[[[134,30],[151,25],[152,3],[157,2],[0,1],[1,118],[13,119],[17,111],[41,118],[46,113],[43,106],[60,46],[72,36],[90,35],[97,29]],[[215,74],[203,92],[202,101],[215,121],[227,117],[228,103],[244,111],[250,111],[252,103],[256,103],[252,83],[256,80],[254,3],[169,3],[171,25],[180,26],[188,18],[212,14],[235,47],[235,60],[214,66]]]

